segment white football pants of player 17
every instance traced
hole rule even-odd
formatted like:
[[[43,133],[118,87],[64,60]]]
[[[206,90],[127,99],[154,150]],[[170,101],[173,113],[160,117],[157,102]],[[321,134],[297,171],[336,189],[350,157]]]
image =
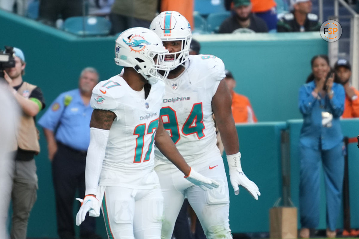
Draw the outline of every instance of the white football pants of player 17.
[[[101,208],[108,238],[160,239],[163,221],[160,188],[106,186]]]

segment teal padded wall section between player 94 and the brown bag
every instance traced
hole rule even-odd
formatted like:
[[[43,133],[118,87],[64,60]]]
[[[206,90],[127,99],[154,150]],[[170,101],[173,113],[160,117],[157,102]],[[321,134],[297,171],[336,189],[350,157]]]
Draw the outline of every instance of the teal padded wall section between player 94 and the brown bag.
[[[229,225],[233,233],[269,231],[269,209],[282,195],[280,132],[285,122],[238,124],[243,172],[259,187],[258,201],[243,188],[235,195],[229,182]]]

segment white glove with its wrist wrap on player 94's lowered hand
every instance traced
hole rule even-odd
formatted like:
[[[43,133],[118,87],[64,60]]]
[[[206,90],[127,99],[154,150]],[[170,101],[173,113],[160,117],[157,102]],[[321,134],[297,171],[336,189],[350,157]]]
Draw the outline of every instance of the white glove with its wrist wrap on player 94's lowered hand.
[[[229,167],[229,179],[230,184],[234,189],[234,194],[239,194],[239,186],[244,187],[255,200],[258,200],[258,196],[261,196],[259,188],[257,185],[249,180],[246,175],[244,175],[242,166],[241,166],[241,153],[227,155],[228,167]]]

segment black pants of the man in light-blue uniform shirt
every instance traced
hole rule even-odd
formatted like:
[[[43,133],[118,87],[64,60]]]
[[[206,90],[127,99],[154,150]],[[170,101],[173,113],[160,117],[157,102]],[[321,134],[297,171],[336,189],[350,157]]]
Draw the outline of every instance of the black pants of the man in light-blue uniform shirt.
[[[74,203],[76,208],[80,202],[75,200],[85,196],[85,163],[86,152],[67,147],[57,142],[57,152],[52,161],[52,179],[55,188],[57,233],[61,239],[73,239],[75,235]],[[95,232],[95,218],[86,216],[80,225],[80,237],[89,238]]]

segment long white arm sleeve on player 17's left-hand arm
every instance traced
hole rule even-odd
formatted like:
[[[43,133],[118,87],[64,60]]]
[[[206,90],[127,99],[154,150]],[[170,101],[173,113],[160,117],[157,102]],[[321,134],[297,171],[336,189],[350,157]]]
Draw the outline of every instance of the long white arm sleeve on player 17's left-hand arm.
[[[97,193],[109,132],[105,129],[90,128],[90,145],[87,150],[85,169],[85,195]]]

